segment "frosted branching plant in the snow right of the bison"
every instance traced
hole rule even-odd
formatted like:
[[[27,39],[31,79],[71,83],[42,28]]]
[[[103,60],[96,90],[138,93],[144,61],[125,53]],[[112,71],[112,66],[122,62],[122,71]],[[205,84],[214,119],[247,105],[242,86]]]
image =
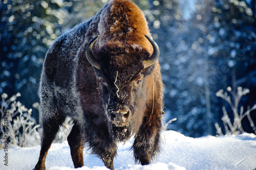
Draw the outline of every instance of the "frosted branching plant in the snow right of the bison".
[[[232,95],[233,101],[231,100],[228,93],[224,92],[223,89],[219,90],[216,93],[216,96],[221,97],[222,99],[224,99],[229,104],[229,106],[232,109],[233,116],[234,116],[233,123],[232,123],[228,114],[227,114],[225,106],[222,107],[224,115],[221,119],[224,123],[226,134],[228,134],[228,135],[230,135],[230,134],[238,135],[238,134],[244,133],[241,121],[245,116],[247,116],[247,118],[250,122],[250,126],[252,127],[252,130],[254,131],[254,133],[256,133],[256,127],[253,124],[253,121],[252,121],[251,116],[250,116],[250,112],[252,110],[256,109],[256,104],[254,104],[252,108],[248,107],[246,112],[244,112],[244,107],[243,106],[240,107],[240,110],[238,109],[242,96],[249,93],[250,90],[247,89],[247,88],[243,89],[242,87],[239,86],[239,87],[237,87],[237,93],[232,91],[231,87],[227,87],[227,91]],[[223,135],[222,130],[221,130],[218,123],[215,123],[215,127],[217,129],[217,134]]]

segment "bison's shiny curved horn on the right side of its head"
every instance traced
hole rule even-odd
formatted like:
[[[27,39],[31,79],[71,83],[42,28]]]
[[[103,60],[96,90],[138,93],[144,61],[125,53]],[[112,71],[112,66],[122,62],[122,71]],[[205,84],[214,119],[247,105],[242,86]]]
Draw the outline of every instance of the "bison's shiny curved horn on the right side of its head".
[[[153,65],[157,61],[160,51],[159,51],[159,47],[158,47],[157,43],[153,39],[151,39],[147,35],[145,35],[145,37],[148,39],[148,41],[150,41],[150,43],[152,44],[153,49],[154,49],[154,52],[151,55],[151,57],[143,61],[144,68],[147,68],[147,67]]]

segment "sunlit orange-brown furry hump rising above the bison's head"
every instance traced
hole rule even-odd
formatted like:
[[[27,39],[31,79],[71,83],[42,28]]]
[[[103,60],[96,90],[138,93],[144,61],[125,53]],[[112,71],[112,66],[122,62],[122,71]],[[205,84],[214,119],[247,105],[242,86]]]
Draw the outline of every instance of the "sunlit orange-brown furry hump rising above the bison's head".
[[[131,1],[120,0],[109,3],[110,11],[102,13],[102,20],[99,25],[104,26],[103,29],[99,27],[99,34],[102,47],[114,44],[122,47],[125,44],[134,44],[145,49],[148,53],[153,53],[151,43],[144,35],[150,35],[146,19],[142,11]],[[97,42],[96,42],[97,43]]]

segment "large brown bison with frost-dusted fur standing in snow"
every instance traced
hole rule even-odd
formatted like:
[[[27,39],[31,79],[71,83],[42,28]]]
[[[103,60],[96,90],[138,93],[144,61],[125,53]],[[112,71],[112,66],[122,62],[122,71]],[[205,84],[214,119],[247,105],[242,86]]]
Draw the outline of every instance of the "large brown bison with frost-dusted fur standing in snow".
[[[160,150],[163,84],[159,47],[142,11],[129,0],[106,3],[90,20],[49,48],[40,81],[42,137],[35,169],[45,169],[53,139],[66,117],[75,167],[83,148],[114,169],[117,142],[134,135],[136,162],[150,164]]]

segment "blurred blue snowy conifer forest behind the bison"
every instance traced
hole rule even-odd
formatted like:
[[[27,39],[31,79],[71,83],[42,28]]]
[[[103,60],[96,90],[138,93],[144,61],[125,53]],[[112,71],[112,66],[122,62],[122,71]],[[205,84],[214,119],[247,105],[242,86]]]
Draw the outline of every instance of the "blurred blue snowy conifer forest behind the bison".
[[[94,16],[107,0],[0,0],[0,94],[17,98],[39,124],[38,87],[49,46],[63,33]],[[231,122],[231,96],[238,112],[256,103],[256,3],[254,0],[134,0],[160,47],[164,122],[186,136],[224,131],[223,106]],[[237,87],[249,89],[241,93]],[[227,93],[225,93],[227,92]],[[6,96],[4,95],[4,98]],[[3,98],[3,95],[2,95]],[[227,98],[228,99],[228,98]],[[0,103],[3,105],[3,102]],[[241,106],[243,108],[241,109]],[[2,108],[3,110],[3,108]],[[256,111],[242,119],[253,133]],[[3,113],[2,113],[3,118]],[[250,120],[251,119],[251,120]]]

